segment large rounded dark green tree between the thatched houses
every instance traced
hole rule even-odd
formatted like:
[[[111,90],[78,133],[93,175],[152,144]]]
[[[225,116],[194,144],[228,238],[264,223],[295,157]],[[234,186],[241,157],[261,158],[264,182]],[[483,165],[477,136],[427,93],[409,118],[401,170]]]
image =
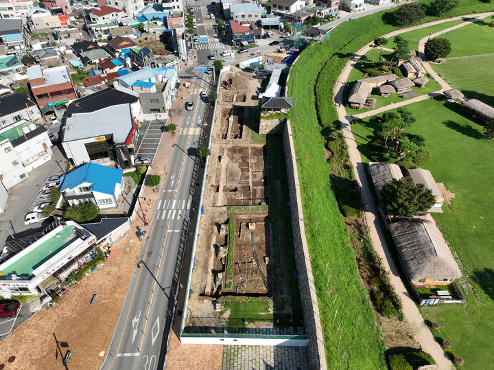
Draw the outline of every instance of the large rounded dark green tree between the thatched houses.
[[[436,200],[423,184],[415,185],[410,176],[393,179],[381,188],[381,200],[388,213],[399,218],[413,218],[430,209]]]

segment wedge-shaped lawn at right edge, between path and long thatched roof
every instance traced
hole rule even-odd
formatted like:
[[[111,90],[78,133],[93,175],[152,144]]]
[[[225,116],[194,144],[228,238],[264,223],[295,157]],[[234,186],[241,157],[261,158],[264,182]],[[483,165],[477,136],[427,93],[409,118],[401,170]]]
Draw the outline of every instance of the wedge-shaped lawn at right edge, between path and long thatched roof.
[[[494,106],[493,65],[494,55],[451,59],[440,65],[431,63],[434,71],[439,73],[448,84],[462,91],[465,97],[475,98],[492,106]]]

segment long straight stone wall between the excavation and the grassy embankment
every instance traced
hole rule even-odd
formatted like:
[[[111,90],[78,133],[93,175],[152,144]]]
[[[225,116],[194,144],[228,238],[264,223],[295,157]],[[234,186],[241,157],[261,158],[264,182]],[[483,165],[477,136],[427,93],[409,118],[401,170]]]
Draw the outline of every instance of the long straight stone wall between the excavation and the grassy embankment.
[[[325,369],[326,355],[322,340],[319,306],[316,288],[314,287],[314,278],[312,277],[309,249],[307,248],[307,240],[305,239],[302,200],[300,185],[298,184],[298,171],[290,121],[287,121],[283,130],[283,150],[285,152],[287,167],[290,203],[292,204],[292,229],[298,272],[298,288],[301,292],[305,333],[309,336],[307,359],[309,360],[310,369]]]

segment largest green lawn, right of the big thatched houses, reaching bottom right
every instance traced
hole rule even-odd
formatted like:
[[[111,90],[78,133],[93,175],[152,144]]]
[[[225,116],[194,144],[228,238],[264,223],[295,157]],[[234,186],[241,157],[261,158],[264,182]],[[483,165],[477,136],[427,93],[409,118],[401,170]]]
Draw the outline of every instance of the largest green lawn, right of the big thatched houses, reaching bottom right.
[[[464,266],[463,290],[467,284],[472,286],[472,290],[467,288],[467,305],[424,308],[422,312],[425,319],[440,324],[438,336],[453,344],[451,354],[464,358],[469,369],[486,369],[494,363],[494,353],[489,351],[494,332],[489,314],[494,310],[494,250],[488,246],[494,217],[491,202],[486,201],[494,198],[494,172],[486,161],[494,155],[494,145],[482,139],[482,126],[462,115],[458,104],[431,99],[408,108],[416,123],[407,132],[425,137],[431,153],[422,167],[456,194],[451,211],[432,215]],[[373,125],[364,119],[352,124],[352,130],[362,160],[371,161],[375,153],[368,142],[373,139]]]

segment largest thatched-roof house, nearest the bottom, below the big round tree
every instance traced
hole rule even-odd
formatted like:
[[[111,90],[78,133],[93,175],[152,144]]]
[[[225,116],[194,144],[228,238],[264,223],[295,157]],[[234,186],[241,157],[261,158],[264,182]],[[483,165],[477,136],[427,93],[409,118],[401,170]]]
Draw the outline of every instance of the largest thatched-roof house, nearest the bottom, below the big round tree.
[[[412,284],[447,285],[460,268],[434,222],[401,220],[389,225],[403,270]]]

